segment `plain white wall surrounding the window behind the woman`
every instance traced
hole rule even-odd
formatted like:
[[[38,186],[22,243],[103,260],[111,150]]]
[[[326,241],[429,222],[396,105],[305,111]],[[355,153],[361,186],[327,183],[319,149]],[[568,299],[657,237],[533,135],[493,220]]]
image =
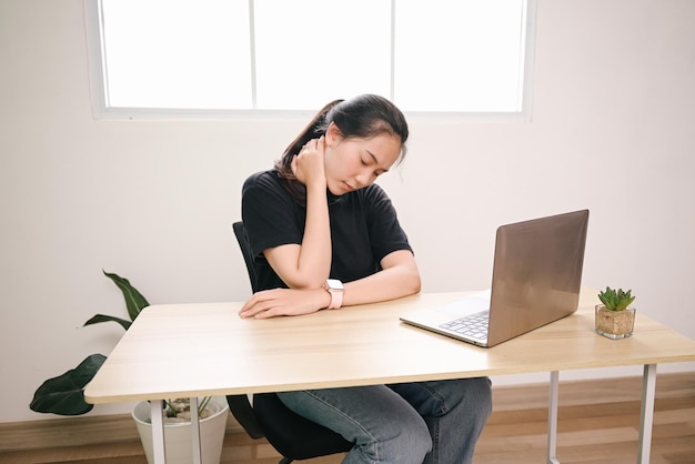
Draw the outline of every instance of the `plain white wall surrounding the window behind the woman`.
[[[632,288],[638,311],[695,337],[694,22],[688,0],[541,0],[532,122],[412,119],[409,159],[382,184],[424,290],[487,288],[498,224],[590,208],[585,284]],[[36,387],[121,336],[79,329],[125,314],[102,269],[152,303],[249,296],[231,234],[240,186],[305,121],[94,120],[81,0],[0,1],[0,422],[11,422],[47,417],[28,407]],[[562,377],[623,373],[639,370]]]

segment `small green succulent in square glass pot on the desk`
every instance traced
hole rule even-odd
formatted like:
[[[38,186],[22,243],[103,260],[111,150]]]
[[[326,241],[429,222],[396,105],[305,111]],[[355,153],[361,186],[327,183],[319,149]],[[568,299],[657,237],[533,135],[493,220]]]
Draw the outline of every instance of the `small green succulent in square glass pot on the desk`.
[[[625,339],[633,334],[636,309],[631,306],[635,301],[632,290],[606,290],[598,293],[601,304],[596,305],[596,333],[612,340]]]

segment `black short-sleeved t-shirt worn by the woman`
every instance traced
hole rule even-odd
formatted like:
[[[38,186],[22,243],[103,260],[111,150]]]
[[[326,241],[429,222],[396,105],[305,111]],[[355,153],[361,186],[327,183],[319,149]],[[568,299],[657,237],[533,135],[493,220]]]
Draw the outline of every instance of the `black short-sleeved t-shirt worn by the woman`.
[[[302,243],[306,210],[283,185],[275,170],[251,175],[242,189],[241,215],[258,273],[258,290],[286,288],[263,250]],[[389,253],[412,249],[386,193],[376,184],[341,196],[329,195],[332,279],[351,282],[381,270]]]

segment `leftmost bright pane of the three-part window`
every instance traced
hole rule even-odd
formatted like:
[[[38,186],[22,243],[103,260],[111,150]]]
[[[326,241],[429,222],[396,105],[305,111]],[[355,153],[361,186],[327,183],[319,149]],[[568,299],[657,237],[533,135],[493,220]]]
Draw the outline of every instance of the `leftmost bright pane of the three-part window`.
[[[102,0],[107,107],[251,108],[246,1]]]

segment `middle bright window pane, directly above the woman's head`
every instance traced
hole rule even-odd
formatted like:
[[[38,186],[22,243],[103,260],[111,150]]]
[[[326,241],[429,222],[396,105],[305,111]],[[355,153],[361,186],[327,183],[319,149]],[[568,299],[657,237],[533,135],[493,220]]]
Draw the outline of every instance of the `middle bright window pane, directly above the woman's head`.
[[[390,0],[255,0],[259,109],[389,95]]]

